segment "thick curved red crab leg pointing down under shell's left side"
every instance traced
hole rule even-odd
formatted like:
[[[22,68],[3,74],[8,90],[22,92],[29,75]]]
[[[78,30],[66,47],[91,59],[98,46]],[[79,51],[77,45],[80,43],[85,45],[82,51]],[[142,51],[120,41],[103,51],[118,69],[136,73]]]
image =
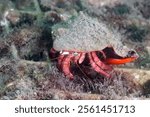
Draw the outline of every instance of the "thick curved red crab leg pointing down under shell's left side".
[[[62,68],[62,71],[63,73],[69,77],[70,79],[73,79],[73,75],[72,73],[70,72],[70,61],[72,59],[73,55],[67,55],[63,61],[62,61],[62,65],[61,65],[61,68]]]

